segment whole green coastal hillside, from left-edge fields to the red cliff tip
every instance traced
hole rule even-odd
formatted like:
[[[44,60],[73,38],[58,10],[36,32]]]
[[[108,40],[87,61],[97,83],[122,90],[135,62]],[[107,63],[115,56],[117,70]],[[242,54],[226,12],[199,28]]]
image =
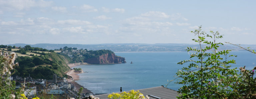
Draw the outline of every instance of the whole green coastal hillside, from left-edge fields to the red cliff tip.
[[[126,63],[125,58],[116,56],[110,50],[87,50],[63,47],[58,51],[47,50],[39,47],[24,47],[0,45],[2,52],[16,52],[15,62],[19,63],[12,71],[13,75],[20,77],[31,76],[38,79],[52,79],[53,74],[60,77],[70,68],[67,64],[88,62],[89,64],[120,64]]]

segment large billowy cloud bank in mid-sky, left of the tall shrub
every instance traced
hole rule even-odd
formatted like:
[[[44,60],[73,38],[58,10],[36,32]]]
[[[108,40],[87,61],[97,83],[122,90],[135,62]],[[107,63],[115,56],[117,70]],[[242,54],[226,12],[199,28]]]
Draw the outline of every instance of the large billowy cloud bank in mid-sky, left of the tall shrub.
[[[164,22],[162,19],[168,19],[170,15],[164,12],[150,11],[142,13],[139,16],[131,17],[123,21],[123,27],[117,31],[120,32],[141,32],[141,33],[159,33],[161,35],[171,35],[173,29],[170,26],[173,23]],[[161,22],[159,22],[161,20]]]

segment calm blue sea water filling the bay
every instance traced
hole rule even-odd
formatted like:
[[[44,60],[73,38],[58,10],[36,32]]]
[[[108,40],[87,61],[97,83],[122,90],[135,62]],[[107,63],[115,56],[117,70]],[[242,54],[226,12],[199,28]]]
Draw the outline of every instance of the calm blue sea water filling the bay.
[[[80,80],[76,82],[94,93],[119,92],[132,89],[150,88],[166,85],[167,80],[176,77],[177,70],[186,65],[178,65],[181,60],[189,59],[187,52],[115,52],[117,56],[125,57],[125,64],[110,65],[82,65],[84,72],[79,74]],[[256,66],[256,55],[247,51],[232,51],[237,55],[229,59],[236,60],[232,68],[246,66],[253,69]],[[130,64],[130,62],[134,64]],[[181,87],[175,81],[167,87],[178,90]]]

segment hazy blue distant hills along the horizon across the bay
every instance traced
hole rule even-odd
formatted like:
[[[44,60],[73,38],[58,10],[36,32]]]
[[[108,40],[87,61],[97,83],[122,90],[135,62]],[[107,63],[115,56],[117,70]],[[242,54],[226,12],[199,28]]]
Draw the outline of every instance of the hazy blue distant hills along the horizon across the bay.
[[[31,47],[45,48],[48,50],[60,49],[65,46],[76,47],[78,49],[88,49],[88,50],[111,50],[113,52],[159,52],[159,51],[185,51],[187,47],[199,47],[198,44],[178,44],[178,43],[156,43],[156,44],[142,44],[142,43],[117,43],[117,44],[8,44],[15,45],[17,47],[24,47],[30,45]],[[242,47],[251,47],[251,49],[256,49],[256,45],[245,45],[241,44]],[[231,49],[231,50],[242,50],[234,45],[225,44],[220,46],[221,49]]]

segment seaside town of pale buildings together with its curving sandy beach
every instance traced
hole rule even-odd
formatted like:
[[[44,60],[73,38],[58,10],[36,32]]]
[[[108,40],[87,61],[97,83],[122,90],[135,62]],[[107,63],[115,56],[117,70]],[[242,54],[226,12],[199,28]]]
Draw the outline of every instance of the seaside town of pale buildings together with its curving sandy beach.
[[[74,67],[84,64],[86,63],[70,64],[69,66]],[[41,95],[53,95],[58,98],[76,98],[79,96],[82,96],[82,98],[89,97],[90,95],[93,95],[93,93],[85,88],[83,88],[82,93],[79,94],[79,89],[83,86],[77,84],[75,80],[79,79],[77,74],[80,73],[83,73],[83,71],[70,69],[66,72],[68,78],[59,77],[56,74],[53,74],[52,80],[33,79],[30,76],[21,78],[15,75],[10,76],[9,79],[16,82],[15,89],[19,89],[24,86],[24,94],[28,96],[28,98]]]

